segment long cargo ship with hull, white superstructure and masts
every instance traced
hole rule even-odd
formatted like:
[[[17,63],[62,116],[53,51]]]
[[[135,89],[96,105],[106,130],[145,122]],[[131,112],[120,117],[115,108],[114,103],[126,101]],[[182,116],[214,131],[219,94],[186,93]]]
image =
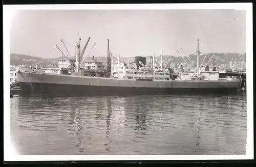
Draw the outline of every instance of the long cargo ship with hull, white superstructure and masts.
[[[90,38],[89,38],[90,39]],[[89,41],[89,40],[88,40]],[[40,70],[26,71],[16,67],[17,77],[23,94],[51,96],[133,95],[133,94],[173,94],[173,93],[231,93],[240,88],[241,78],[220,78],[216,70],[201,71],[199,67],[199,40],[197,67],[194,71],[182,72],[174,77],[170,69],[161,63],[147,67],[141,61],[114,62],[108,40],[108,76],[86,76],[79,68],[81,59],[81,38],[76,42],[76,61],[74,71],[68,74],[45,73]],[[88,43],[88,42],[87,42]],[[83,48],[84,49],[84,48]],[[112,56],[112,57],[111,57]]]

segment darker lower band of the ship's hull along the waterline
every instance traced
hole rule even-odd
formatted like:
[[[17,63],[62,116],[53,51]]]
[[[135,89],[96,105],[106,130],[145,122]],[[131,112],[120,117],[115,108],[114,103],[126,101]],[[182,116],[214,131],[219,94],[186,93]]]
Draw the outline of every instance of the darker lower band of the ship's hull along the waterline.
[[[20,82],[23,94],[52,96],[83,95],[133,95],[133,94],[178,94],[178,93],[234,93],[237,89],[226,88],[135,88],[107,87]]]

